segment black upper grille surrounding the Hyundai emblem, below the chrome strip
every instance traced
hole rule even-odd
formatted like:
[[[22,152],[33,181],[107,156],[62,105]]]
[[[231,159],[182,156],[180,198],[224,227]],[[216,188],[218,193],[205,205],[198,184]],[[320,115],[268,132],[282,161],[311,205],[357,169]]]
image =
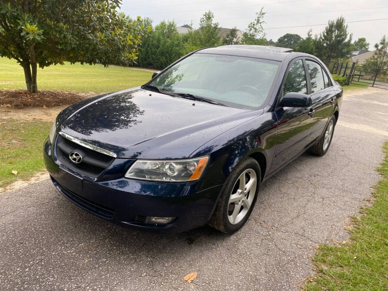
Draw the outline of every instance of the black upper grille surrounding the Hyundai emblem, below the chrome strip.
[[[69,154],[72,151],[76,151],[81,154],[81,163],[76,164],[70,160]],[[57,159],[59,159],[61,163],[90,177],[98,177],[101,175],[114,159],[113,157],[101,152],[76,144],[61,135],[58,135],[56,154]]]

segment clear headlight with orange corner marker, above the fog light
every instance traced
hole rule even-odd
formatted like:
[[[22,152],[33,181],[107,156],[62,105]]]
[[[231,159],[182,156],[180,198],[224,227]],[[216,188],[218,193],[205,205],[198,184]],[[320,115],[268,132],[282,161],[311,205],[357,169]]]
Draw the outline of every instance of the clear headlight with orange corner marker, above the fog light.
[[[137,160],[125,174],[125,178],[140,180],[185,182],[198,180],[209,157],[180,160]]]

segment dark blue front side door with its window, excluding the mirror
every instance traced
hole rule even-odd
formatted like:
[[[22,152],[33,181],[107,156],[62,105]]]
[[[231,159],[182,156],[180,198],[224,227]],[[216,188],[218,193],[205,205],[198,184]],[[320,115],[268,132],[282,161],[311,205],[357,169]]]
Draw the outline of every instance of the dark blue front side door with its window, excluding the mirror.
[[[303,58],[295,59],[291,63],[286,73],[281,97],[289,92],[309,93],[306,70]],[[278,107],[275,110],[278,119],[277,137],[270,173],[300,154],[310,143],[314,121],[312,106]]]

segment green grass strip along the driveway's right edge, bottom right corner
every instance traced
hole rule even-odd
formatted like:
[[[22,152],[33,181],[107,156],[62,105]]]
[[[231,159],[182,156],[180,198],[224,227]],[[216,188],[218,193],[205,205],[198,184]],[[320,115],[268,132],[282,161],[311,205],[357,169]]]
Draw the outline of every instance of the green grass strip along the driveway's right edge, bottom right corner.
[[[388,142],[385,161],[378,168],[383,179],[374,189],[374,204],[353,217],[350,241],[321,245],[314,256],[317,268],[307,291],[388,290]]]

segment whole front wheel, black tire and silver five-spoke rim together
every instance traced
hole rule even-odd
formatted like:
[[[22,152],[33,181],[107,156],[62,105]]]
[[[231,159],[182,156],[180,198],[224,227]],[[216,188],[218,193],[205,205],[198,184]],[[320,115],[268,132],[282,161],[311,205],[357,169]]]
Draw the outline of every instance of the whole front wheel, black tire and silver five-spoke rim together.
[[[260,188],[260,166],[246,158],[230,173],[209,225],[225,233],[239,230],[248,220]]]

